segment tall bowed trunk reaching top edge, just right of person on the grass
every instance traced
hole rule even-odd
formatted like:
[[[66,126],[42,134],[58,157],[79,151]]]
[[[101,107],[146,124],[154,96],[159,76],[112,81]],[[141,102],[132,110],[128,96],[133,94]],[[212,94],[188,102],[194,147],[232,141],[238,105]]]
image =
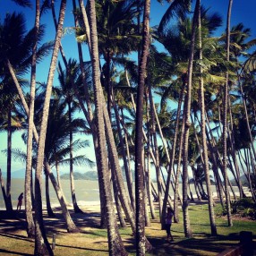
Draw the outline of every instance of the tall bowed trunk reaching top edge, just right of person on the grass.
[[[192,237],[192,229],[190,226],[189,214],[188,214],[188,200],[187,200],[187,183],[188,183],[188,139],[190,130],[190,113],[191,113],[191,94],[192,94],[192,62],[195,47],[195,32],[196,24],[198,21],[200,8],[200,1],[196,1],[195,11],[192,20],[192,40],[190,49],[190,58],[188,65],[188,84],[187,84],[187,95],[186,95],[186,109],[185,109],[185,127],[183,134],[183,226],[184,234],[186,237]]]

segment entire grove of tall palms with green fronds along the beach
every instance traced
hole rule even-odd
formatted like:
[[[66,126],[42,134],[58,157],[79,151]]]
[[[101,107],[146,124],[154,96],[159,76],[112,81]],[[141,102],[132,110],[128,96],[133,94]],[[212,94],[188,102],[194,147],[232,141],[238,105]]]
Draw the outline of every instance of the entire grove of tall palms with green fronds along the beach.
[[[32,6],[30,1],[14,2]],[[65,0],[60,3],[58,19],[54,1],[37,0],[35,24],[30,31],[25,29],[21,13],[6,14],[0,25],[1,127],[8,132],[4,201],[6,209],[12,211],[13,154],[26,159],[27,232],[35,237],[35,254],[53,255],[42,217],[43,170],[46,185],[50,179],[55,188],[67,231],[79,232],[67,209],[58,174],[59,165],[68,162],[73,209],[81,212],[75,196],[73,165],[92,163],[74,153],[75,149],[87,145],[74,141],[77,132],[92,136],[101,226],[107,228],[110,255],[127,255],[115,210],[122,226],[126,225],[124,211],[136,237],[137,254],[144,255],[151,250],[145,226],[149,225],[149,214],[157,218],[154,200],[158,201],[162,228],[167,205],[175,210],[178,222],[178,204],[181,204],[184,235],[192,236],[188,209],[189,201],[194,199],[189,167],[198,200],[209,202],[211,235],[218,233],[211,179],[216,184],[220,203],[227,209],[228,226],[233,225],[230,192],[237,198],[231,176],[242,198],[245,193],[240,178],[244,174],[256,201],[255,54],[249,51],[255,40],[249,40],[250,30],[242,23],[230,28],[232,0],[226,32],[219,38],[213,35],[222,25],[221,17],[209,13],[200,0],[194,2],[173,1],[159,25],[150,28],[149,0],[89,0],[86,5],[82,0],[73,0],[78,60],[66,59],[61,44],[67,13]],[[55,22],[55,41],[42,44],[45,27],[40,24],[40,18],[47,11],[51,11]],[[165,53],[158,52],[156,41],[165,47]],[[86,46],[89,62],[83,56]],[[134,53],[138,55],[137,60],[129,58]],[[37,64],[48,54],[51,62],[47,82],[43,84],[37,81]],[[25,73],[30,73],[30,81],[24,80]],[[58,73],[58,86],[54,85],[55,73]],[[78,112],[81,112],[79,118]],[[25,154],[12,150],[14,129],[25,131]],[[56,178],[53,166],[57,170]],[[152,169],[157,186],[150,178]],[[169,195],[170,188],[174,191],[174,201]],[[54,214],[48,196],[47,212]]]

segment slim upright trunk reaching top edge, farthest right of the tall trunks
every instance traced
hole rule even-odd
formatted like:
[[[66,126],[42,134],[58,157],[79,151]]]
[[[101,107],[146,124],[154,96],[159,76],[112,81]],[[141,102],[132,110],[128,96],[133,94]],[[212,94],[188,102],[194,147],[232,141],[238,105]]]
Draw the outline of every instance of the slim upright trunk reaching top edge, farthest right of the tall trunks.
[[[226,60],[229,61],[229,44],[230,44],[230,17],[232,9],[233,0],[229,0],[228,13],[226,20]],[[223,100],[223,175],[224,175],[224,184],[225,184],[225,194],[226,194],[226,212],[227,212],[227,225],[233,226],[231,218],[231,206],[230,198],[228,192],[227,184],[227,173],[226,173],[226,132],[227,132],[227,94],[228,94],[228,72],[226,72],[226,83],[224,86],[224,100]]]

